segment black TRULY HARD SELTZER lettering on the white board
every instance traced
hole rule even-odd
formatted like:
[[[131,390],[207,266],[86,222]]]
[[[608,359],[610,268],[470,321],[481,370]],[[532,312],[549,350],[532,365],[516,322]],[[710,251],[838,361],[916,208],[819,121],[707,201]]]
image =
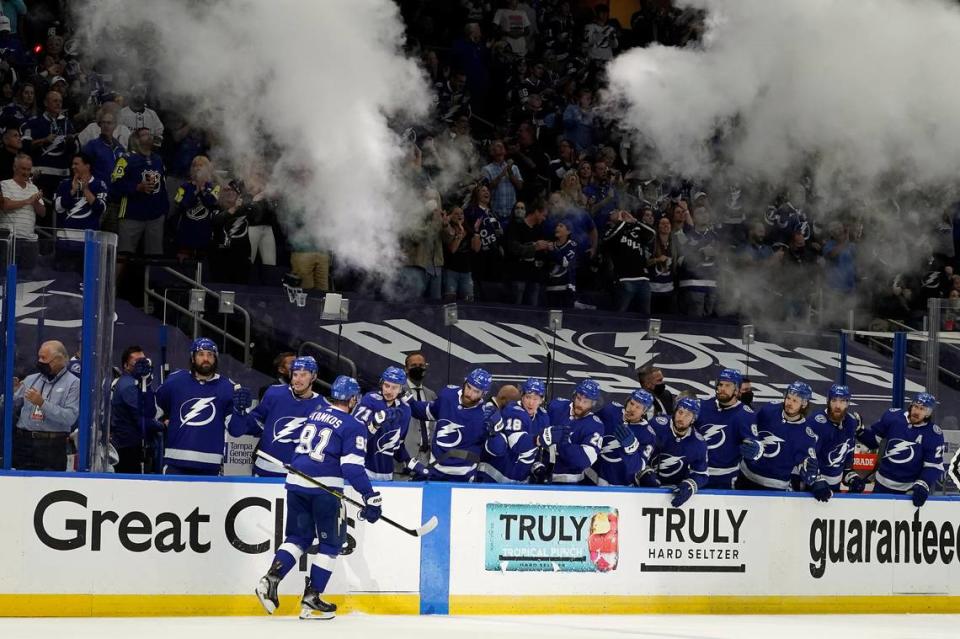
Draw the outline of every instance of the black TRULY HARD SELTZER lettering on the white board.
[[[745,508],[640,509],[641,572],[746,572]]]

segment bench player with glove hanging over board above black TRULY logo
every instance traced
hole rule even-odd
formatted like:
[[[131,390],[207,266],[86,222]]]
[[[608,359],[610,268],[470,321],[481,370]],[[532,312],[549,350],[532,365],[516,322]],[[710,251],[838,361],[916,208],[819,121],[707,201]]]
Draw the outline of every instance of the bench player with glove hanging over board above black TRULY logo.
[[[679,508],[707,485],[707,443],[693,427],[700,414],[700,400],[681,397],[673,419],[657,415],[650,421],[656,441],[647,468],[637,473],[637,486],[673,487],[670,504]]]

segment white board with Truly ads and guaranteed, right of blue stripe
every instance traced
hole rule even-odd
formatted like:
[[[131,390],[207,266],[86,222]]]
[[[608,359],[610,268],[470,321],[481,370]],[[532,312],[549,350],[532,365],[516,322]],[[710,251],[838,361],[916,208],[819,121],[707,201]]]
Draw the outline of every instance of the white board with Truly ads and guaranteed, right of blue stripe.
[[[450,558],[451,600],[494,594],[960,595],[956,501],[931,500],[916,509],[905,499],[838,496],[824,504],[809,496],[701,493],[672,508],[665,492],[452,490],[450,538],[457,547]],[[559,524],[551,517],[597,512],[616,513],[615,570],[574,572],[561,562],[556,569],[551,564],[549,577],[509,563],[491,569],[490,553],[500,551],[491,546],[491,516],[511,517],[512,538],[519,538],[521,516],[533,518],[525,522],[524,544],[512,545],[545,554],[557,545]],[[589,525],[569,521],[569,536]],[[497,526],[494,531],[505,534],[506,520]],[[589,544],[589,535],[579,536]]]

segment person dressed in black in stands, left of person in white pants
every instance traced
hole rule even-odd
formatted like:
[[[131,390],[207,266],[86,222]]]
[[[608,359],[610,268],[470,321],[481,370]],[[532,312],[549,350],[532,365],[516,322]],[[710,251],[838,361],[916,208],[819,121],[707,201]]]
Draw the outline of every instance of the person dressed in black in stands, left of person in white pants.
[[[250,238],[243,184],[230,180],[220,191],[218,204],[213,217],[211,276],[216,282],[246,284],[250,278]]]

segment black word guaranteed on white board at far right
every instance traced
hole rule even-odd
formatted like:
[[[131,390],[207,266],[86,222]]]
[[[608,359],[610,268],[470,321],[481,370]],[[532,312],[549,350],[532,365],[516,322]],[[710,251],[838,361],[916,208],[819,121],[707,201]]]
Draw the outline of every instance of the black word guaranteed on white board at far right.
[[[843,564],[936,566],[960,563],[960,525],[913,519],[827,519],[810,524],[810,575]]]

